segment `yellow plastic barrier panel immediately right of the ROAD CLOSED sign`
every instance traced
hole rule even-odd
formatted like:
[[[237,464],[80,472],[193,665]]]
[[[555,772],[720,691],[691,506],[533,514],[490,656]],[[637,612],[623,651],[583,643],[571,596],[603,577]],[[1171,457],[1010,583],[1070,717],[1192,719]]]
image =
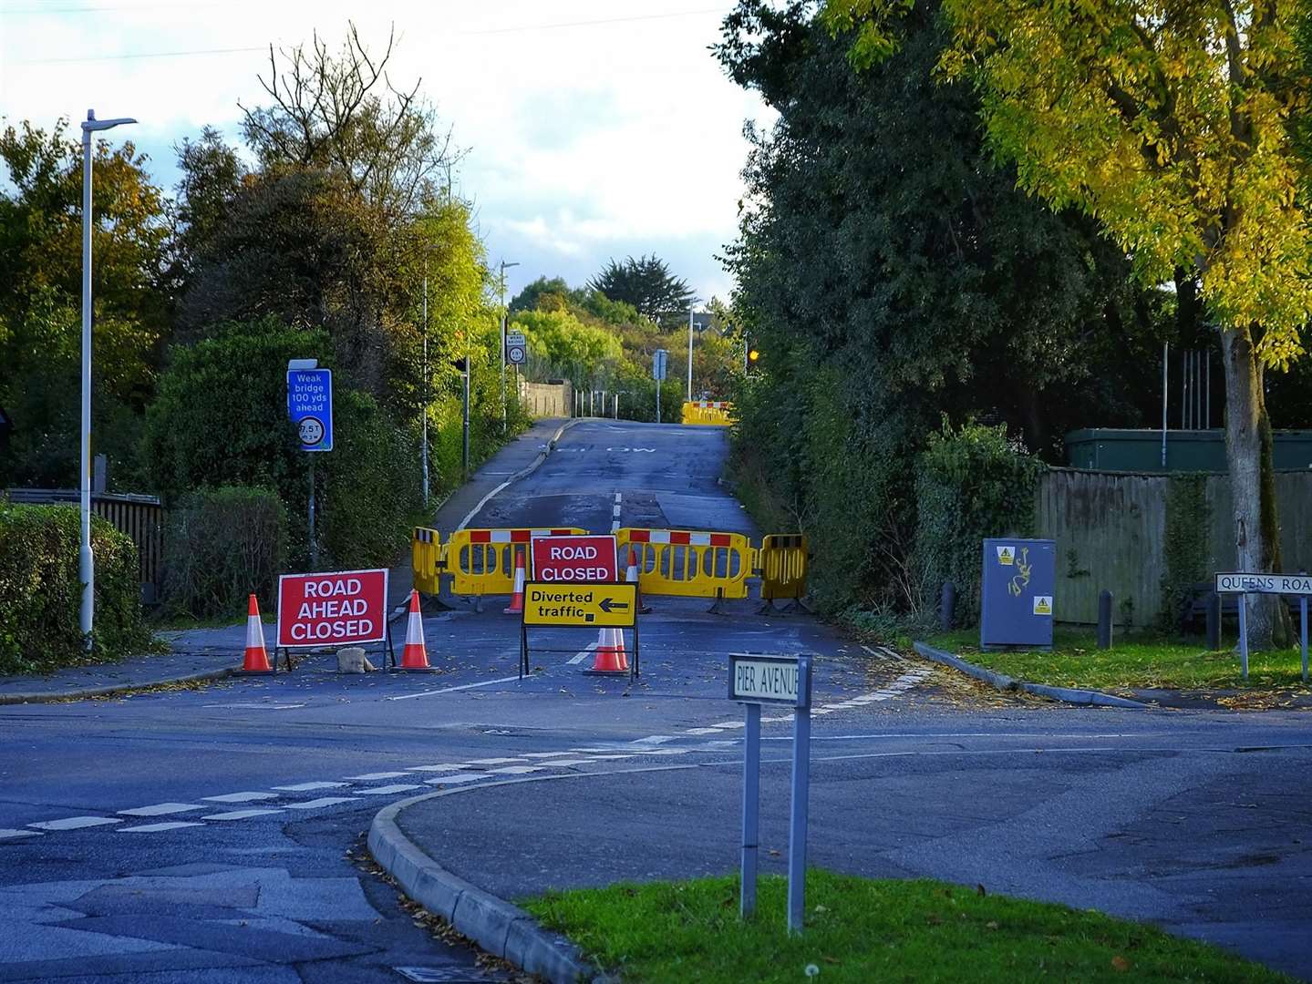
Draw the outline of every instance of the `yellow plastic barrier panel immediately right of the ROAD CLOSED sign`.
[[[644,595],[747,597],[752,545],[743,533],[687,529],[634,529],[615,533],[619,556],[638,556],[638,584]]]

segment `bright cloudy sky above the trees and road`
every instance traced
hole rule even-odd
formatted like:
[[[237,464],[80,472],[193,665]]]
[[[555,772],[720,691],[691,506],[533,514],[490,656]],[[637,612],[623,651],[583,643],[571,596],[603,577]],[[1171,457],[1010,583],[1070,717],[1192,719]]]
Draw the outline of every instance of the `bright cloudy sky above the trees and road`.
[[[398,86],[422,79],[468,155],[478,210],[513,293],[541,274],[581,283],[606,259],[656,253],[702,297],[735,236],[745,119],[766,110],[707,47],[732,0],[0,0],[0,115],[50,127],[94,107],[172,189],[172,145],[213,124],[235,140],[258,105],[268,45],[353,18],[377,48],[395,24]],[[114,139],[129,130],[114,131]]]

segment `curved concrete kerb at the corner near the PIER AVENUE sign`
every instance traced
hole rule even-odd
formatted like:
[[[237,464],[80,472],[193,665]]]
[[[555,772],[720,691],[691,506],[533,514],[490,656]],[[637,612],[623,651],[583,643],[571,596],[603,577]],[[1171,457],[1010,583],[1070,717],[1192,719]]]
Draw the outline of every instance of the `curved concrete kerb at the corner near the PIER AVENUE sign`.
[[[396,823],[401,810],[441,795],[446,793],[411,797],[379,810],[369,827],[374,860],[411,899],[493,956],[552,984],[604,980],[564,937],[542,929],[520,907],[451,874],[401,832]]]

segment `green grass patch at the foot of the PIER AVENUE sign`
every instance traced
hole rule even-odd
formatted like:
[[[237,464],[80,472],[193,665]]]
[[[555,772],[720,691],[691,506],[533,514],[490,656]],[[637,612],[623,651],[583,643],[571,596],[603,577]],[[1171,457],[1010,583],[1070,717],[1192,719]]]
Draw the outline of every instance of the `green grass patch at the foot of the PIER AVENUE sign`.
[[[552,892],[523,905],[626,984],[1291,980],[1093,911],[821,870],[807,877],[806,933],[789,937],[785,895],[783,878],[762,878],[747,924],[736,877]]]

